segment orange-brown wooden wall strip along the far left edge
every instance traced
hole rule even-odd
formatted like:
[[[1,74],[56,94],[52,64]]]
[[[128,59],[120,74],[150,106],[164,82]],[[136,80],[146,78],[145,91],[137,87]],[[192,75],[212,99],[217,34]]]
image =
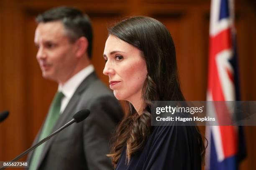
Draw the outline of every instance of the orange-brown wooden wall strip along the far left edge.
[[[15,153],[23,151],[25,139],[26,121],[23,115],[24,107],[24,67],[20,52],[23,46],[19,44],[22,35],[22,28],[18,10],[14,2],[3,0],[3,62],[1,67],[3,70],[2,97],[3,107],[8,108],[10,116],[3,122],[3,155],[1,160],[9,160],[13,158]],[[17,14],[17,15],[16,15]],[[16,17],[17,16],[17,17]],[[13,22],[15,20],[15,22]],[[19,30],[15,30],[19,28]]]

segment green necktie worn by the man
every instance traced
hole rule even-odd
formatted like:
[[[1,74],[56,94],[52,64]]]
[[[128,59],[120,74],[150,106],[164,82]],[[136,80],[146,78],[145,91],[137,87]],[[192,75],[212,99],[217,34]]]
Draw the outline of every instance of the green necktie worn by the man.
[[[40,137],[38,141],[44,139],[48,135],[50,135],[52,128],[54,127],[56,121],[59,118],[59,111],[61,107],[61,99],[64,97],[64,94],[62,92],[57,92],[54,96],[54,100],[51,103],[51,107],[49,110],[49,113],[47,115],[46,121],[44,123],[44,127],[41,131]],[[46,143],[46,142],[45,142]],[[36,170],[38,161],[41,157],[41,153],[43,151],[45,143],[41,144],[38,146],[32,156],[30,165],[29,165],[29,170]]]

